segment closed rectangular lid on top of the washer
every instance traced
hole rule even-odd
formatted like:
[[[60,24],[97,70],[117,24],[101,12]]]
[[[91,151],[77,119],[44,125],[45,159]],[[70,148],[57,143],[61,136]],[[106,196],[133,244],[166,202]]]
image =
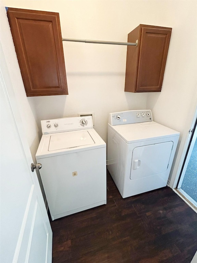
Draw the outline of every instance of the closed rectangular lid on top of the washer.
[[[88,131],[75,131],[50,136],[49,151],[74,148],[84,145],[94,144]]]

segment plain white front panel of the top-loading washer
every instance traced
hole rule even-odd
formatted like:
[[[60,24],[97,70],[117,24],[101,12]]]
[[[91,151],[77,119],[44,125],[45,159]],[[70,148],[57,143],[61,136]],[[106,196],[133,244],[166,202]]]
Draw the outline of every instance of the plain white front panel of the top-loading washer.
[[[37,159],[52,220],[106,204],[106,148]]]

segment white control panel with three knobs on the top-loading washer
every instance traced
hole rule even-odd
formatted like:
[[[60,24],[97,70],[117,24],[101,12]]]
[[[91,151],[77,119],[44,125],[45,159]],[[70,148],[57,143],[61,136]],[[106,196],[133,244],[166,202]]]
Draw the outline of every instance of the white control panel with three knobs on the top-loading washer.
[[[92,116],[68,117],[41,121],[42,134],[92,129]]]

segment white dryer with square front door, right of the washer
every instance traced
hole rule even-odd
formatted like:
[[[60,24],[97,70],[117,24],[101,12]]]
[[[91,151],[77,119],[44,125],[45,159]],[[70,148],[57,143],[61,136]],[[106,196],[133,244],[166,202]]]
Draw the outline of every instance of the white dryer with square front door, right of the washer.
[[[151,110],[110,113],[107,169],[123,198],[167,185],[179,135]]]

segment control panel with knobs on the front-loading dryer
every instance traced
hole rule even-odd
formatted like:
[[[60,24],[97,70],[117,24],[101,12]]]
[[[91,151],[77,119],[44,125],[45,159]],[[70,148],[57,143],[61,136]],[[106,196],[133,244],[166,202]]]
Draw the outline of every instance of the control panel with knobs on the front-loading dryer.
[[[152,121],[151,110],[127,110],[110,113],[109,115],[109,124],[114,125],[123,125],[139,122]]]

